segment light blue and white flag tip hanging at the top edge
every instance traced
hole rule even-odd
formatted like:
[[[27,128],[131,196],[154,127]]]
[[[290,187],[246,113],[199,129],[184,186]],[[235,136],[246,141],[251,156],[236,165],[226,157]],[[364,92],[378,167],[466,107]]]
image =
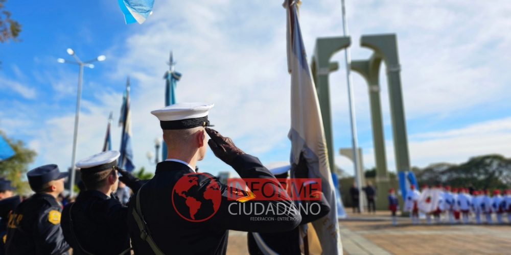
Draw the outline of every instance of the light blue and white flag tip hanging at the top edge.
[[[126,24],[144,23],[151,14],[154,0],[119,0],[119,7],[124,14]]]

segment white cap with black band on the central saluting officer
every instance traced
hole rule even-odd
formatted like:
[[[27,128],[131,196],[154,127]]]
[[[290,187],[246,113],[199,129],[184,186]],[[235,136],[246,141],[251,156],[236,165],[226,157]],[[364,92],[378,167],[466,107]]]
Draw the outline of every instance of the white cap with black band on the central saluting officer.
[[[214,104],[178,103],[151,112],[160,121],[162,130],[191,129],[197,126],[211,126],[207,114]]]

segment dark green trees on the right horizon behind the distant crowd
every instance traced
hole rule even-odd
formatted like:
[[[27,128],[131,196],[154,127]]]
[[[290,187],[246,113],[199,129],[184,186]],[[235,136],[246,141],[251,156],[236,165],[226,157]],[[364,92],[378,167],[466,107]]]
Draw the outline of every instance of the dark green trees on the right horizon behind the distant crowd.
[[[425,168],[413,169],[417,181],[423,185],[449,185],[475,189],[507,189],[511,187],[511,159],[501,155],[485,155],[470,158],[456,165],[436,163]]]

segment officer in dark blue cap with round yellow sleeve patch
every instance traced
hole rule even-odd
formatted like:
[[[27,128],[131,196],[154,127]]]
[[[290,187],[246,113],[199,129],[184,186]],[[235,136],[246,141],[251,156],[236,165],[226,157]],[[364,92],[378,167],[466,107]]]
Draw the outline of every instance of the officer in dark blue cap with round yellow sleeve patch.
[[[68,254],[60,228],[62,206],[57,201],[67,173],[51,164],[30,170],[27,177],[36,193],[9,216],[6,254]]]

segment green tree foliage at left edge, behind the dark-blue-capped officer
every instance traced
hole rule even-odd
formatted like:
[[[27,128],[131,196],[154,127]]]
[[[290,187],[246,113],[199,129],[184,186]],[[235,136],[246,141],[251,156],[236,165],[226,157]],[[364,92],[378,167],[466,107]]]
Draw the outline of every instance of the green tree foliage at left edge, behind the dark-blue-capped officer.
[[[29,170],[29,164],[34,162],[36,152],[26,148],[22,141],[7,138],[2,131],[0,131],[0,136],[3,136],[16,152],[16,155],[12,158],[0,161],[0,176],[11,181],[19,194],[28,194],[30,186],[26,181],[25,175]]]

